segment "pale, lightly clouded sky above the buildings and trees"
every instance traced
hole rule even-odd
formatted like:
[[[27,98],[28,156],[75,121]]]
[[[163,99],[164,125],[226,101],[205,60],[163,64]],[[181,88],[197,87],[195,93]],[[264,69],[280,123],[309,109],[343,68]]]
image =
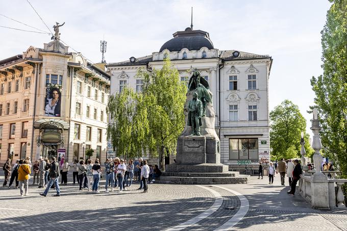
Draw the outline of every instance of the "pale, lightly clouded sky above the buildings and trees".
[[[285,99],[299,106],[311,126],[314,92],[312,76],[321,69],[320,31],[326,22],[328,0],[219,1],[41,1],[29,0],[49,30],[55,22],[70,51],[101,62],[100,40],[107,41],[108,63],[159,52],[176,31],[190,26],[207,31],[215,48],[235,49],[274,59],[269,79],[270,111]],[[49,32],[25,0],[0,0],[0,14]],[[0,26],[33,30],[0,15]],[[43,47],[51,35],[0,27],[0,60],[22,54],[32,45]]]

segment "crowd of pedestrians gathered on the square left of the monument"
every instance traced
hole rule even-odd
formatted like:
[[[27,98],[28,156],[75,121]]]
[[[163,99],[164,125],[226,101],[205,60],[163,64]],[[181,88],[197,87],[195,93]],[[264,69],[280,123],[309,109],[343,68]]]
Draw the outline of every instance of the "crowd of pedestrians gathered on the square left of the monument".
[[[69,164],[66,159],[59,161],[53,157],[51,161],[47,158],[39,157],[32,165],[30,158],[17,160],[11,166],[11,159],[4,164],[5,180],[3,187],[20,189],[21,196],[29,195],[28,186],[32,179],[32,185],[38,184],[38,188],[43,188],[41,196],[46,196],[49,190],[55,189],[54,196],[60,196],[60,186],[67,185],[68,174],[72,169],[72,182],[79,184],[79,190],[88,190],[100,193],[100,180],[105,177],[105,193],[110,193],[118,189],[121,193],[132,187],[133,182],[139,183],[137,190],[148,192],[148,184],[153,184],[155,179],[161,175],[158,165],[148,166],[147,161],[142,158],[133,160],[123,160],[119,158],[107,159],[102,165],[99,159],[88,159]],[[61,180],[61,181],[59,181]]]

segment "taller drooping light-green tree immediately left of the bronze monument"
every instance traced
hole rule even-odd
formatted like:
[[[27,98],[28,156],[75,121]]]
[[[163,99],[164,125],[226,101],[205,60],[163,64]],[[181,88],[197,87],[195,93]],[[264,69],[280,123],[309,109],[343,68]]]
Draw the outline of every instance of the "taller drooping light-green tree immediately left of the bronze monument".
[[[160,168],[164,169],[164,158],[176,153],[177,138],[184,129],[187,87],[168,59],[164,60],[162,69],[151,72],[142,69],[137,75],[144,79],[143,97],[149,126],[146,146],[153,157],[159,157]]]

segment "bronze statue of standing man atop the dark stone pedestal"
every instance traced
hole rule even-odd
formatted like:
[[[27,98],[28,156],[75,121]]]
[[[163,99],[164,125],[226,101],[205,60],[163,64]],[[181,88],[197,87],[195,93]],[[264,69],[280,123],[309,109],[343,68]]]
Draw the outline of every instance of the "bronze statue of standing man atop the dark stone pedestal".
[[[194,91],[193,99],[188,104],[188,122],[187,125],[191,126],[191,135],[201,136],[200,126],[203,125],[201,117],[203,115],[203,104],[201,100],[197,98],[197,92]]]

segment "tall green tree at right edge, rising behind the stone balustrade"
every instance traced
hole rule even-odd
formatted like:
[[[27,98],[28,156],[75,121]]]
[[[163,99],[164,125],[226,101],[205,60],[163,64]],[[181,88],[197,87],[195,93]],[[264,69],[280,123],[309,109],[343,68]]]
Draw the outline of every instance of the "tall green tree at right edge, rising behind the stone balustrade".
[[[325,156],[347,177],[347,1],[330,0],[321,31],[323,75],[311,79]]]

